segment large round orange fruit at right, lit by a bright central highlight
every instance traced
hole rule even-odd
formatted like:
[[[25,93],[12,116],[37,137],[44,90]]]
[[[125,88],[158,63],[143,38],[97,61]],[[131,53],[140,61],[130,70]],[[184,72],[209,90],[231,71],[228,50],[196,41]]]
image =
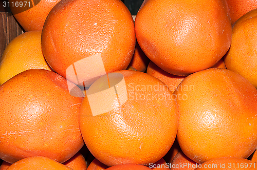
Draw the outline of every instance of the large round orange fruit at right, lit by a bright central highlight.
[[[254,152],[257,90],[247,79],[211,68],[183,79],[174,95],[177,140],[190,159],[203,163],[219,157],[248,158]]]

